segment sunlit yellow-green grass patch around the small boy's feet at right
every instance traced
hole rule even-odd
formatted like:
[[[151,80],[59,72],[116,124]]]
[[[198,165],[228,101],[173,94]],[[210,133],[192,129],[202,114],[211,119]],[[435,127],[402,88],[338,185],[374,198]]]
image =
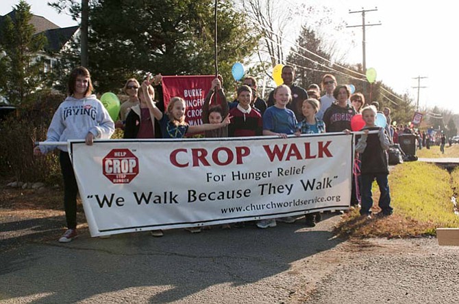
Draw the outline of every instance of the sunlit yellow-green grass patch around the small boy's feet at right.
[[[434,164],[406,162],[392,169],[389,184],[393,215],[368,220],[360,217],[358,210],[351,210],[336,227],[337,234],[407,238],[434,236],[438,227],[459,227],[459,216],[454,214],[451,202],[459,189],[459,169],[450,175]],[[373,184],[374,205],[378,197]]]

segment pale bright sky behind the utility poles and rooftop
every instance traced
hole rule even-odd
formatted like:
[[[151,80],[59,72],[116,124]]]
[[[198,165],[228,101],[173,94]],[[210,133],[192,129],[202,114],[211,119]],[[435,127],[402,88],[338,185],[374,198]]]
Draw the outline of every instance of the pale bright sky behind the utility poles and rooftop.
[[[77,25],[70,16],[58,14],[46,3],[50,0],[27,0],[32,13],[49,19],[60,27]],[[18,0],[1,0],[0,14],[11,11]],[[337,22],[344,20],[347,25],[361,25],[362,14],[349,14],[349,10],[372,10],[366,13],[366,23],[382,25],[366,28],[367,68],[375,68],[377,81],[383,81],[398,94],[408,93],[417,103],[418,81],[419,107],[449,109],[459,114],[459,102],[447,88],[454,89],[453,72],[459,70],[456,49],[456,1],[436,0],[285,0],[286,5],[326,5],[331,8],[329,17]],[[319,18],[321,16],[318,16]],[[295,30],[289,31],[295,40],[299,33],[299,17]],[[345,28],[331,32],[336,37],[345,61],[349,64],[362,62],[362,29]],[[454,100],[451,100],[454,99]]]

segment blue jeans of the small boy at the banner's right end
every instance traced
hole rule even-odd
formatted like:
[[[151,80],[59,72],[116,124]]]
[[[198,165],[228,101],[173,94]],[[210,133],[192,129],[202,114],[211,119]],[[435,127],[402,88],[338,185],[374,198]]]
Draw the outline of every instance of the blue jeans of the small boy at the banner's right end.
[[[392,207],[390,207],[390,189],[387,176],[388,174],[362,174],[362,188],[360,195],[362,196],[362,208],[360,209],[361,215],[370,215],[370,208],[373,206],[373,197],[371,193],[371,184],[376,179],[377,185],[380,186],[380,208],[383,215],[391,215]]]

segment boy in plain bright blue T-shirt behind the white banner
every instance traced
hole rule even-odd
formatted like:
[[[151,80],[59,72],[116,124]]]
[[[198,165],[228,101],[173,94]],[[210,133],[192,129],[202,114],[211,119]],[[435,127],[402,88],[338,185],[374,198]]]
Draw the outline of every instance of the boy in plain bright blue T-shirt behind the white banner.
[[[275,103],[273,106],[266,109],[263,115],[263,135],[278,136],[287,138],[287,135],[295,133],[297,126],[297,118],[292,110],[287,109],[287,104],[291,100],[290,87],[287,85],[280,85],[273,91]],[[295,218],[282,217],[278,219],[284,223],[293,223]],[[259,228],[275,227],[275,219],[263,219],[258,221]]]

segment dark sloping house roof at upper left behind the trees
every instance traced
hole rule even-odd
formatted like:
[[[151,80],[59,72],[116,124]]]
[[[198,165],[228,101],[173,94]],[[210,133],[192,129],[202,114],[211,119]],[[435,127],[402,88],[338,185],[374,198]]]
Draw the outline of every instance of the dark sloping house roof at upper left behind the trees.
[[[0,16],[0,25],[3,23],[3,20],[6,16],[10,16],[12,20],[15,18],[16,11],[12,10],[5,16]],[[42,16],[37,16],[32,14],[30,19],[30,24],[34,25],[35,32],[34,34],[43,33],[48,39],[48,44],[45,46],[45,49],[49,51],[59,51],[66,42],[68,42],[73,34],[77,31],[78,27],[59,27],[55,25],[47,18]]]

